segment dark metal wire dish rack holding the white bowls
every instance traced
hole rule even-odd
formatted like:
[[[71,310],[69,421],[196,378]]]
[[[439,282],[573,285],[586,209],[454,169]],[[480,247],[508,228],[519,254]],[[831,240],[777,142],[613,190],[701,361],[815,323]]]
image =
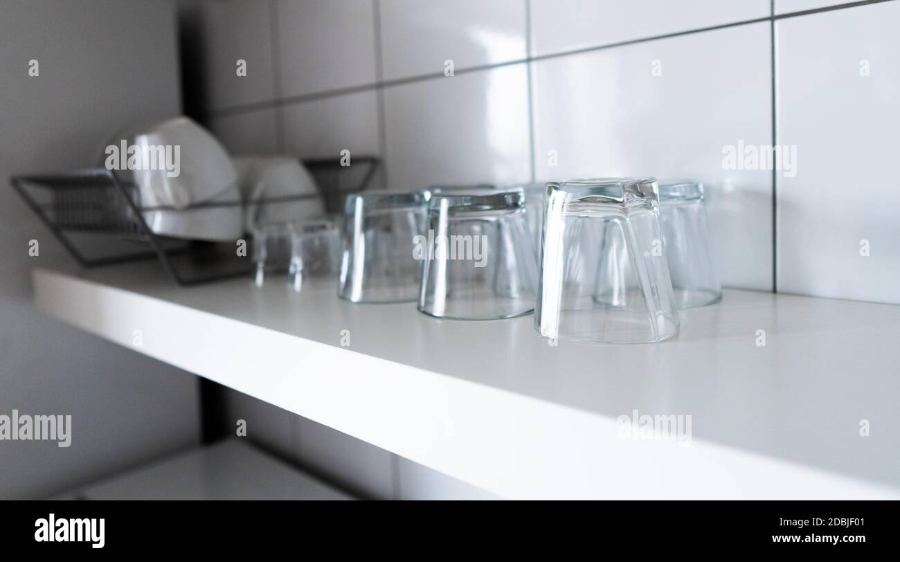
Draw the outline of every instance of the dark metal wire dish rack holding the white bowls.
[[[329,214],[343,211],[347,194],[365,191],[378,164],[374,156],[356,156],[352,166],[330,158],[303,161],[319,187]],[[249,275],[252,270],[250,258],[238,256],[237,240],[203,242],[155,234],[143,213],[175,208],[142,206],[137,186],[122,181],[110,170],[14,175],[10,183],[82,267],[156,257],[181,286]],[[300,201],[319,195],[272,197],[253,204]],[[243,202],[211,201],[192,205],[187,210],[230,206],[243,208]],[[112,247],[122,245],[128,249]]]

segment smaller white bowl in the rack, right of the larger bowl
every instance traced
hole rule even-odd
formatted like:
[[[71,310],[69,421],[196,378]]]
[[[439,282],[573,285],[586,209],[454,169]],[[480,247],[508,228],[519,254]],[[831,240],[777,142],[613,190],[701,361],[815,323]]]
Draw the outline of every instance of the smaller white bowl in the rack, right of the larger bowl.
[[[257,224],[311,219],[325,214],[325,202],[309,171],[293,156],[234,159],[244,198],[244,229]]]

